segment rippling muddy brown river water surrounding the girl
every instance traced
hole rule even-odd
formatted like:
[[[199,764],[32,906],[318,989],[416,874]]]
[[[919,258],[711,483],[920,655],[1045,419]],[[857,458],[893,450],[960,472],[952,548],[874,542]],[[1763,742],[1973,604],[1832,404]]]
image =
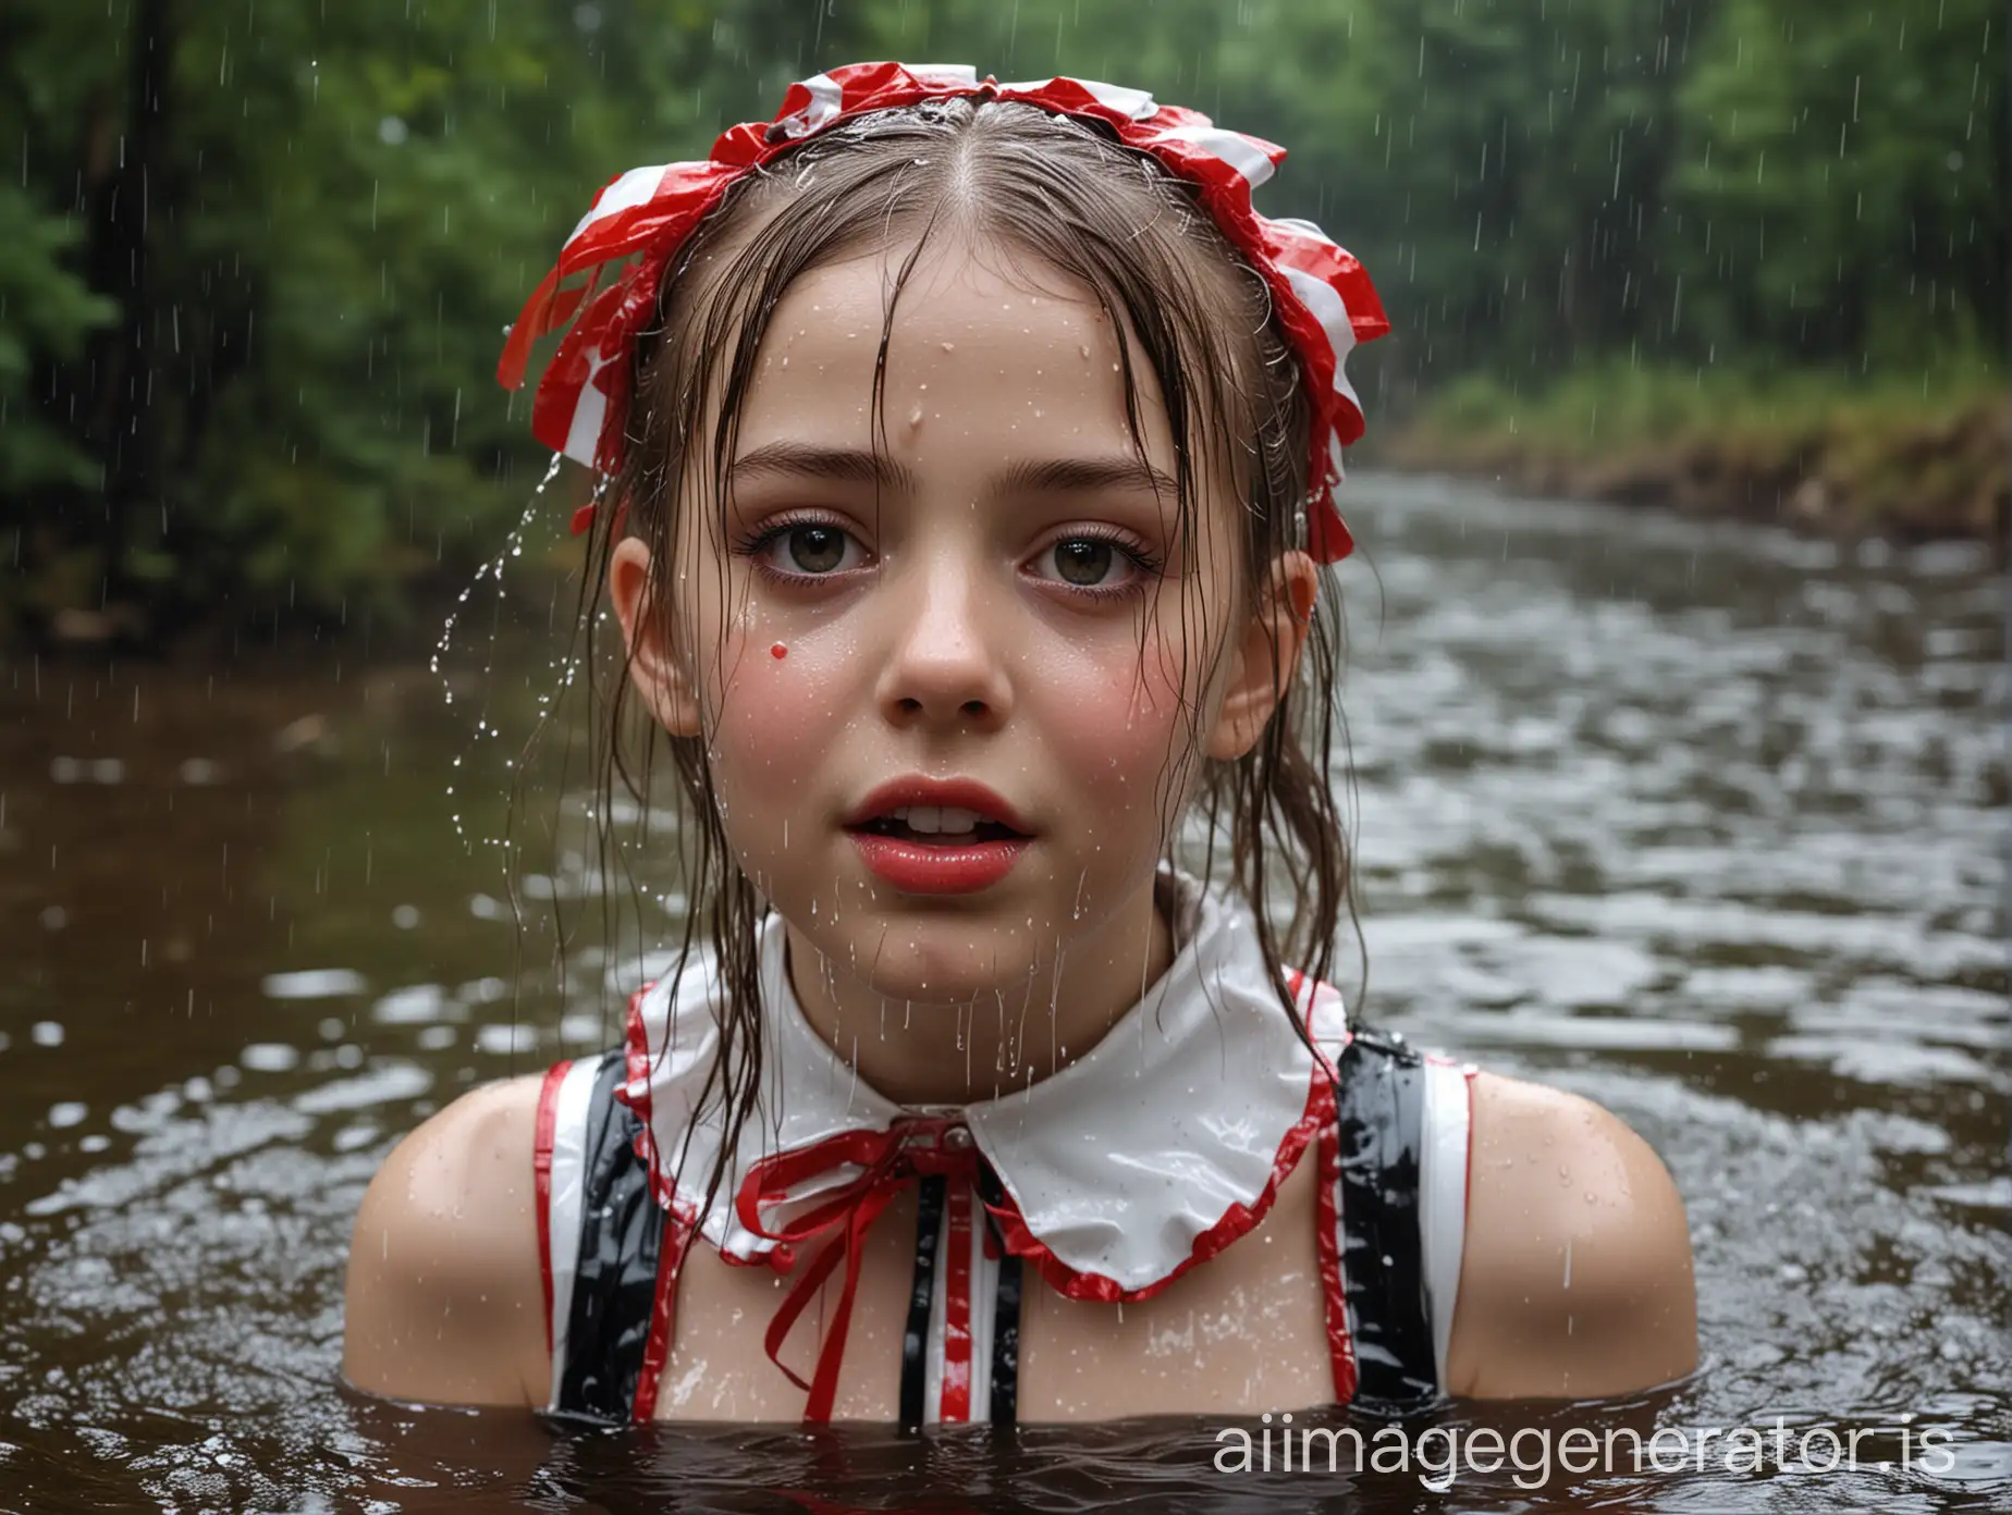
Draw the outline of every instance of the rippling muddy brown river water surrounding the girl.
[[[451,708],[354,648],[0,666],[0,1509],[2012,1503],[2006,581],[1964,547],[1352,493],[1366,1006],[1656,1145],[1692,1380],[1449,1406],[1414,1447],[1523,1441],[1443,1497],[1445,1441],[1268,1475],[1217,1467],[1227,1422],[577,1435],[346,1394],[344,1245],[390,1143],[600,1046],[636,968],[588,930],[553,968],[549,897],[596,909],[583,793],[519,805],[555,837],[521,930],[487,845],[555,686],[539,602],[463,632]],[[1682,1441],[1543,1477],[1571,1428]]]

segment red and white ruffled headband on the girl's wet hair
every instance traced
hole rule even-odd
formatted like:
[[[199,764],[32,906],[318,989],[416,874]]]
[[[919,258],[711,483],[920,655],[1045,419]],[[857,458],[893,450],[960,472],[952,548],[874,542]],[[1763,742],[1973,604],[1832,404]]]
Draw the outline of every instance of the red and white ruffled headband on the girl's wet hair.
[[[594,199],[559,264],[537,286],[509,332],[497,378],[521,388],[531,344],[573,322],[531,402],[531,431],[547,447],[614,475],[622,469],[636,334],[656,312],[666,270],[726,187],[839,121],[960,95],[1022,101],[1113,127],[1127,147],[1151,153],[1193,183],[1223,235],[1272,290],[1272,304],[1306,368],[1314,404],[1308,473],[1308,551],[1322,563],[1348,555],[1354,539],[1334,491],[1342,447],[1362,435],[1362,406],[1344,362],[1356,342],[1390,330],[1370,276],[1312,221],[1260,215],[1251,189],[1272,177],[1286,149],[1225,131],[1199,111],[1155,105],[1145,91],[1093,78],[1000,85],[968,64],[851,62],[789,87],[775,121],[744,121],[720,133],[704,163],[630,169]],[[608,284],[610,264],[640,262]],[[573,274],[577,286],[559,288]],[[585,529],[581,511],[573,529]]]

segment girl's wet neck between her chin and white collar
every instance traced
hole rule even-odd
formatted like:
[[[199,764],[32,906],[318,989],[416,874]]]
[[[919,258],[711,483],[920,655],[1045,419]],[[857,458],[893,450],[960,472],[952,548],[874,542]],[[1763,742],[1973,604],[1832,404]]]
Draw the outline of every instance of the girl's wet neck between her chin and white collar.
[[[976,1000],[889,1000],[795,928],[789,982],[811,1028],[897,1105],[972,1105],[1088,1052],[1173,964],[1151,883],[1093,938],[1052,942],[1024,980]]]

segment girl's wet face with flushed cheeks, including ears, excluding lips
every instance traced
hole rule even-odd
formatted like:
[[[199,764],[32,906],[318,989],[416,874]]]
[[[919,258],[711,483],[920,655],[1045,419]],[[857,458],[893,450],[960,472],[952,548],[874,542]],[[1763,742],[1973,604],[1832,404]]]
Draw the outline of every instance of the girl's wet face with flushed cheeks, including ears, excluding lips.
[[[1229,759],[1272,710],[1272,668],[1264,640],[1231,638],[1209,678],[1237,600],[1223,465],[1183,553],[1153,374],[1135,364],[1141,463],[1121,338],[1062,276],[926,249],[889,336],[875,463],[873,360],[905,256],[789,286],[724,533],[708,453],[686,469],[670,587],[696,656],[638,636],[642,541],[620,543],[612,590],[644,698],[672,732],[710,736],[728,845],[799,950],[889,1000],[970,1002],[1151,909],[1163,815],[1199,756],[1183,690],[1203,750]],[[1312,563],[1290,557],[1304,614]],[[851,821],[915,775],[1006,801],[1030,839],[1004,877],[942,893],[875,871]]]

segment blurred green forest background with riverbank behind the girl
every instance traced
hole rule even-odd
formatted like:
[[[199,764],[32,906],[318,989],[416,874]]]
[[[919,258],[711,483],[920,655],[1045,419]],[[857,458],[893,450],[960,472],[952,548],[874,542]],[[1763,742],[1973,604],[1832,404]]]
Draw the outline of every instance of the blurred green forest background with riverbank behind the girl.
[[[594,189],[877,56],[1290,147],[1376,461],[2004,541],[2000,0],[8,0],[0,636],[396,626],[545,467]]]

